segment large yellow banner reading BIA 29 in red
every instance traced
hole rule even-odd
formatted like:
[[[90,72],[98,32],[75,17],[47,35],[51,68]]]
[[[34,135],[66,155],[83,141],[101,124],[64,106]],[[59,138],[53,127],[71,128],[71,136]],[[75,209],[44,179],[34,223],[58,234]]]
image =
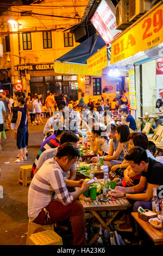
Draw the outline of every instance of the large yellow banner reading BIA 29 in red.
[[[126,29],[126,32],[111,42],[111,64],[157,46],[163,41],[163,1],[142,17],[133,27]]]

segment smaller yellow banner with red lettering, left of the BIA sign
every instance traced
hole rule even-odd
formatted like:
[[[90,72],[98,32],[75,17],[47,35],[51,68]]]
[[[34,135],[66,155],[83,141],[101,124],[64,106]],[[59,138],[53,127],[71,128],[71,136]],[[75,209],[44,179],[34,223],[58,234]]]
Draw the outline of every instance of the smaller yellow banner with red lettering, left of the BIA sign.
[[[92,74],[98,70],[106,68],[108,65],[107,48],[104,46],[101,50],[87,59],[87,73]]]

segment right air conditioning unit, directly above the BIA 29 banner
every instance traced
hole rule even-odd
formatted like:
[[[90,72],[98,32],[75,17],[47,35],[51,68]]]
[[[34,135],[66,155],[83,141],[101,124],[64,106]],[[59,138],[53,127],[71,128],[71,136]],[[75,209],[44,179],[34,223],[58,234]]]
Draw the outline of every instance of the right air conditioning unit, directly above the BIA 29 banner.
[[[151,0],[129,0],[129,21],[136,21],[151,9]]]

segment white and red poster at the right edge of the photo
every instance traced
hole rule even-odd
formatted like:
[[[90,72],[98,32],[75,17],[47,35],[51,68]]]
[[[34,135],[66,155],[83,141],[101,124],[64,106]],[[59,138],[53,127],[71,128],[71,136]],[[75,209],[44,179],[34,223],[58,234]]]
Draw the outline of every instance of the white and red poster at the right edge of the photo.
[[[163,58],[156,63],[156,100],[163,100]]]

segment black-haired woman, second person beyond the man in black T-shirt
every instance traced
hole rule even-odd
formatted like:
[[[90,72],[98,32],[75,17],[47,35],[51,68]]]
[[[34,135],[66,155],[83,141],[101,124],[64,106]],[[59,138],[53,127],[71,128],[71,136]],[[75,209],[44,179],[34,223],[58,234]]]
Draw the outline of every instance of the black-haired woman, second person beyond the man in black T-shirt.
[[[116,127],[115,137],[118,142],[122,144],[123,154],[126,156],[128,154],[128,136],[130,134],[129,127],[126,124],[121,124]],[[129,164],[124,159],[121,164],[116,164],[111,167],[111,172],[115,172],[118,168],[127,168]]]

